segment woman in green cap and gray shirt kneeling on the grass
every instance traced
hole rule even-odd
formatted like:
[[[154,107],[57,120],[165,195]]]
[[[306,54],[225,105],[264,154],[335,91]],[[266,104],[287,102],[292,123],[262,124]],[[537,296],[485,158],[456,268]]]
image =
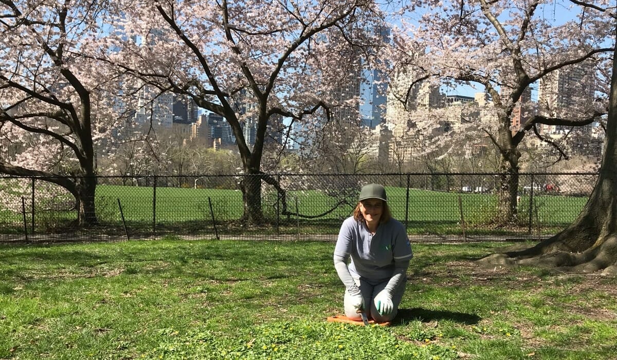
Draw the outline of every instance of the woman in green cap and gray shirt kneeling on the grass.
[[[392,219],[387,206],[386,189],[363,186],[354,216],[343,222],[334,248],[334,268],[346,287],[345,315],[360,320],[362,309],[376,322],[394,319],[412,257],[405,226]]]

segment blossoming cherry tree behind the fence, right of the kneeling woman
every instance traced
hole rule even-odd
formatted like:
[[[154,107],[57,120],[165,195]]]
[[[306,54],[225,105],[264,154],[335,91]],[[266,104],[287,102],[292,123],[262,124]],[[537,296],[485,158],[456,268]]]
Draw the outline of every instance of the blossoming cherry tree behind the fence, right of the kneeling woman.
[[[541,125],[581,126],[607,114],[608,81],[615,37],[615,7],[610,0],[586,7],[579,1],[457,0],[411,4],[393,31],[394,69],[412,69],[418,79],[441,85],[465,84],[489,94],[491,102],[477,117],[464,117],[486,133],[501,155],[500,211],[502,222],[516,219],[520,172],[519,145],[528,133],[543,141]],[[563,12],[557,14],[555,9]],[[598,9],[610,9],[608,11]],[[571,19],[563,14],[572,15]],[[555,107],[548,88],[539,99],[539,111],[526,107],[529,91],[549,83],[558,72],[583,70],[595,94],[570,92],[567,108]],[[587,70],[587,71],[585,71]],[[573,89],[580,82],[571,83]],[[598,96],[598,94],[600,94]],[[597,96],[594,99],[594,96]],[[557,102],[558,103],[558,102]],[[515,111],[522,109],[520,127],[513,127]]]

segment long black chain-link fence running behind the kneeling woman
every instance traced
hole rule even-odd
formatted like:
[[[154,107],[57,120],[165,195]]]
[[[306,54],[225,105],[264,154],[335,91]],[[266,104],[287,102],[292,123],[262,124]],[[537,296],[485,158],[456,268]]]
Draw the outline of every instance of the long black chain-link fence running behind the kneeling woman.
[[[43,178],[0,178],[0,241],[97,241],[178,237],[336,240],[366,183],[415,241],[540,240],[578,216],[595,173],[521,174],[516,216],[497,222],[500,174],[267,174],[96,177],[89,222],[79,204]],[[47,179],[49,180],[49,179]],[[259,182],[259,204],[242,186]],[[275,186],[276,185],[276,186]],[[246,206],[252,205],[252,206]],[[260,217],[246,221],[247,209]],[[95,219],[92,221],[92,219]]]

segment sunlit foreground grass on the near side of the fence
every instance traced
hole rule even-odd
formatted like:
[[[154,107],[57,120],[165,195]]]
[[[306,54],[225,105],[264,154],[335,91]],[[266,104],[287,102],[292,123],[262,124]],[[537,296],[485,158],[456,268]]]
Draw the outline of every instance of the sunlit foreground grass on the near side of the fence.
[[[615,279],[413,245],[391,327],[342,311],[331,242],[0,246],[1,359],[615,359]],[[503,245],[503,243],[500,243]]]

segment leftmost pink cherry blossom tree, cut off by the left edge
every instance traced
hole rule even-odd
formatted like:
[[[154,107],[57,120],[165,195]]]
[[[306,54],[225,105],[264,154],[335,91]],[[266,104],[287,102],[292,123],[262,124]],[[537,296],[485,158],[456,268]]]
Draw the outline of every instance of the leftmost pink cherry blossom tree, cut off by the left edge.
[[[3,0],[0,9],[0,172],[61,186],[78,223],[96,224],[94,143],[113,127],[110,76],[79,53],[106,2]]]

